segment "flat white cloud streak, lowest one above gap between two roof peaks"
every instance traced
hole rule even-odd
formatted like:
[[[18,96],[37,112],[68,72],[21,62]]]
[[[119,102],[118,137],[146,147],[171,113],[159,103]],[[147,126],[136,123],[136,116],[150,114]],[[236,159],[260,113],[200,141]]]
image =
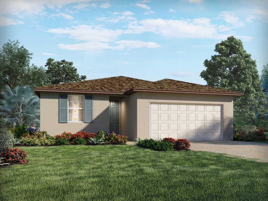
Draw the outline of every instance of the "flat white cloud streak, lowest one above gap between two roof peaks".
[[[159,44],[155,42],[143,42],[139,40],[120,40],[114,43],[120,44],[121,46],[127,49],[136,49],[136,48],[142,48],[142,47],[148,47],[148,48],[161,47]]]

